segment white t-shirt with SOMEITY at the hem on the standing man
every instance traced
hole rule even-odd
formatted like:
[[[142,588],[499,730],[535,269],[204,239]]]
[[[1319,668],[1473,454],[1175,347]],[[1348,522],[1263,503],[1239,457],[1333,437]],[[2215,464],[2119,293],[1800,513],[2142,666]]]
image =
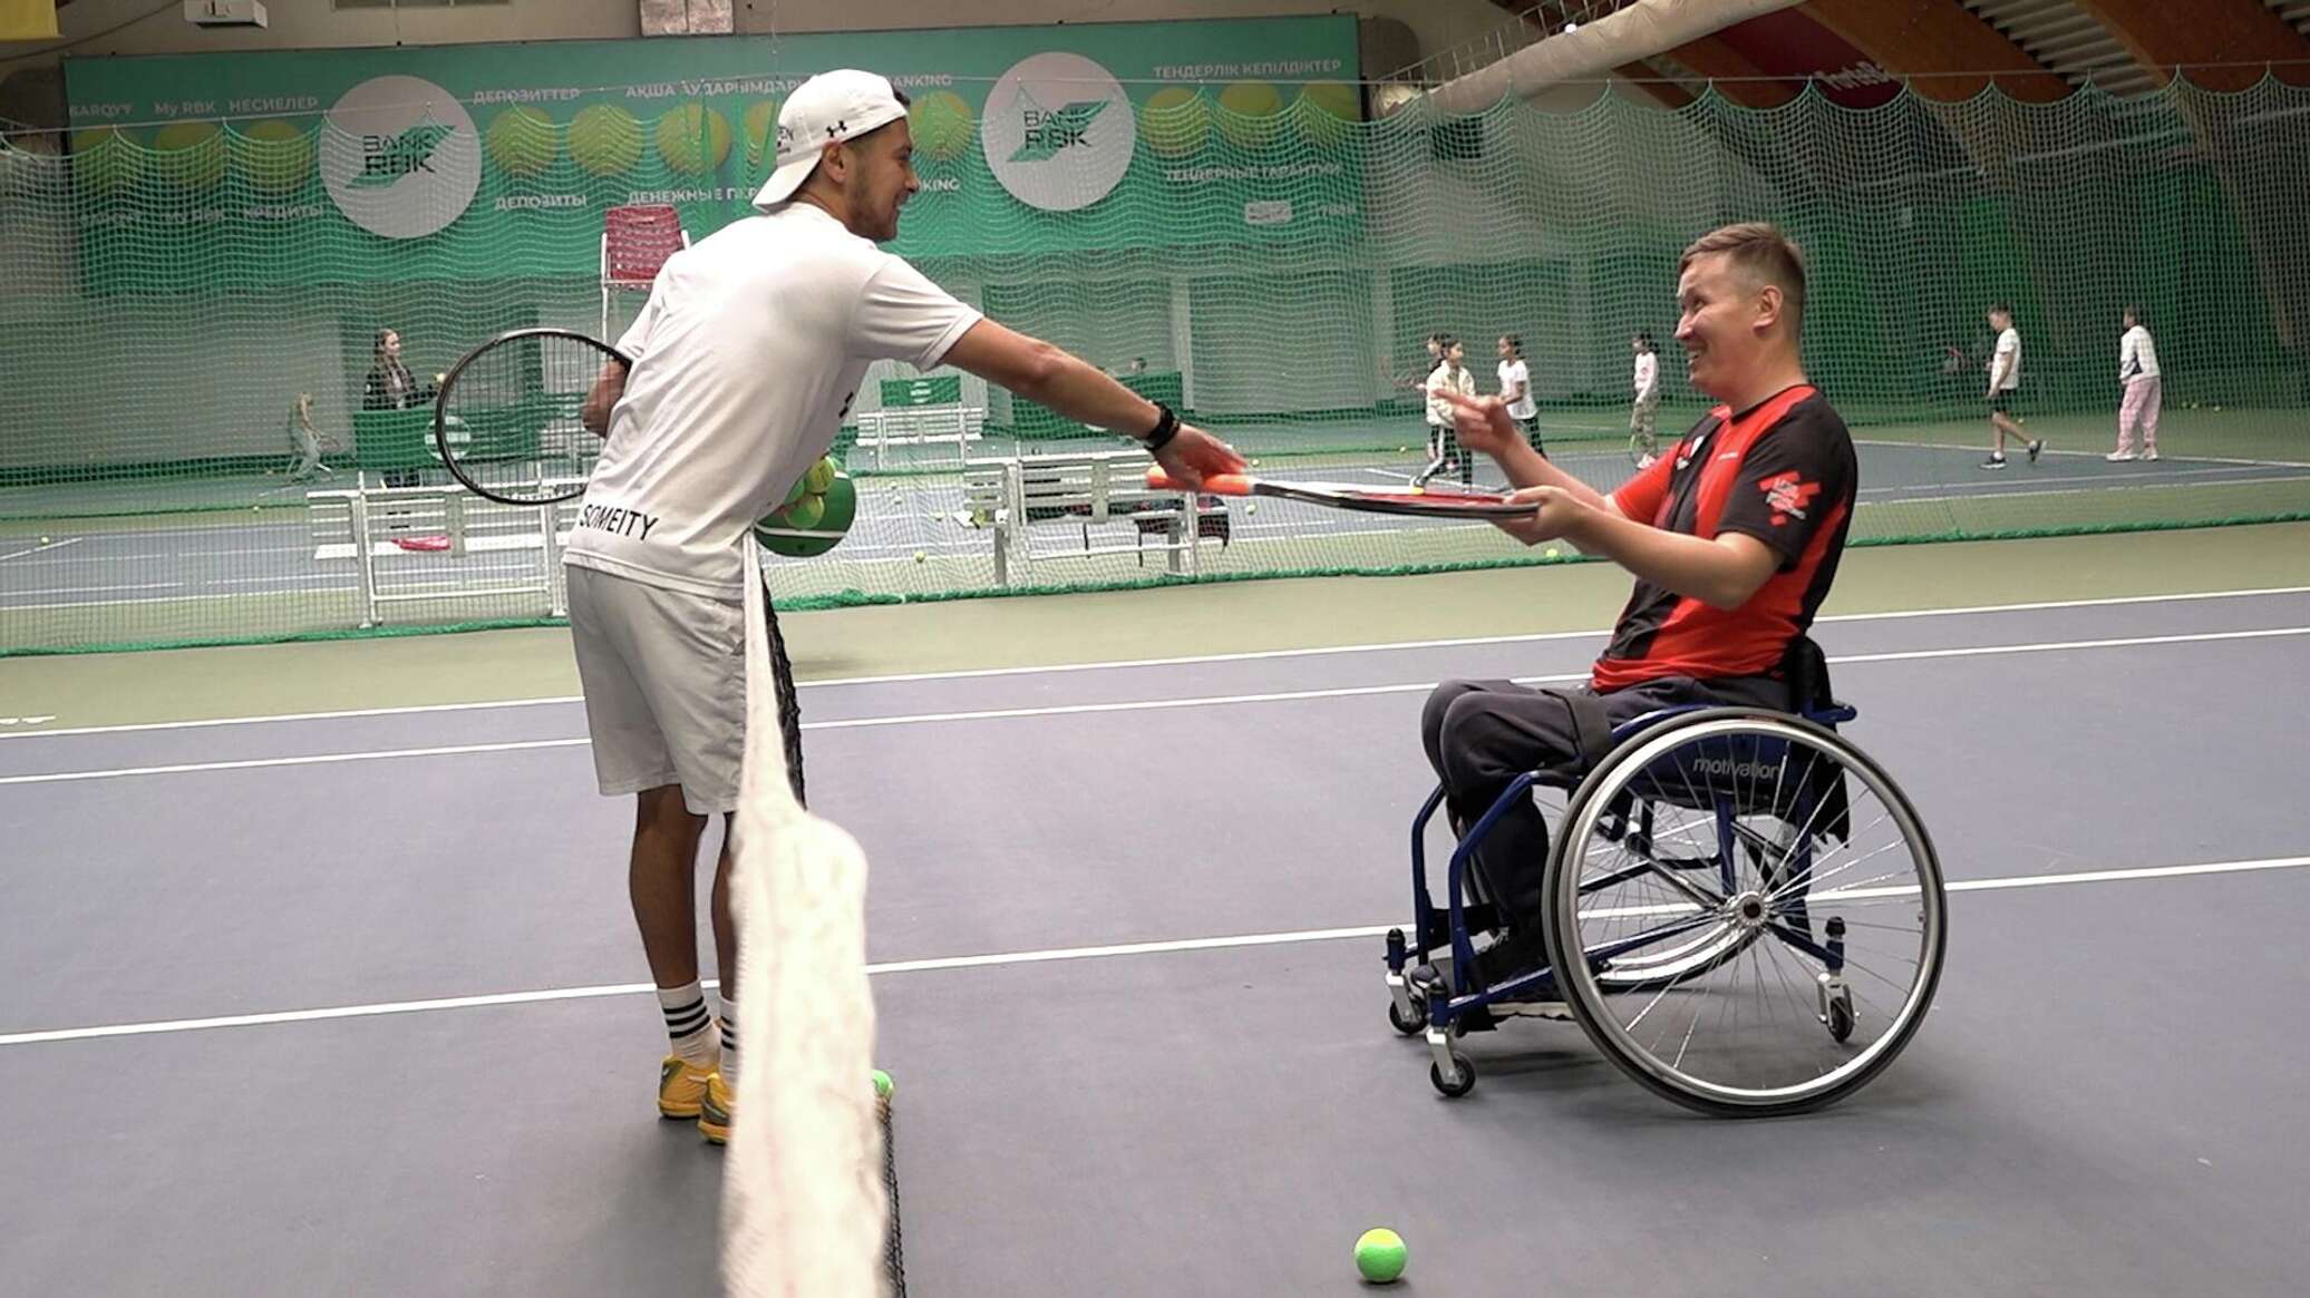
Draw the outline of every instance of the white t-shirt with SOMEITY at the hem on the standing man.
[[[933,370],[979,312],[808,203],[668,259],[568,564],[744,596],[739,543],[834,446],[873,360]]]

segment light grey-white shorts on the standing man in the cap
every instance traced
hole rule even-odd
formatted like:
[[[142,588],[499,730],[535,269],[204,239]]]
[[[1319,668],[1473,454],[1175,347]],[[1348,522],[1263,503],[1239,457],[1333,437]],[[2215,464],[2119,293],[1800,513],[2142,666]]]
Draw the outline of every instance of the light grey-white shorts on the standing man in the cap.
[[[564,573],[601,792],[681,785],[693,815],[737,811],[746,605],[575,564]]]

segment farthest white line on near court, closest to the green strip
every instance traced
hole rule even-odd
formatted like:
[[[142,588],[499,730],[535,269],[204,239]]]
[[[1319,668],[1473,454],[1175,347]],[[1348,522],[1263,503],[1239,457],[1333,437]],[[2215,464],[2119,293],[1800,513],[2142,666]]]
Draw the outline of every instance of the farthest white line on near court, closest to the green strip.
[[[2197,600],[2229,600],[2229,598],[2271,598],[2271,596],[2303,596],[2310,587],[2250,587],[2236,591],[2181,591],[2164,596],[2104,596],[2088,600],[2037,600],[2037,603],[1991,603],[1991,605],[1964,605],[1964,607],[1906,607],[1890,612],[1843,612],[1834,617],[1816,619],[1820,624],[1846,624],[1846,621],[1908,621],[1922,617],[1970,617],[1989,612],[2056,612],[2072,607],[2121,607],[2121,605],[2146,605],[2146,603],[2197,603]],[[1187,654],[1178,658],[1118,658],[1111,663],[1049,663],[1040,667],[970,667],[956,672],[896,672],[887,677],[836,677],[827,681],[802,681],[797,688],[822,691],[822,688],[848,688],[848,686],[882,686],[882,684],[910,684],[910,681],[973,681],[989,677],[1042,677],[1042,674],[1065,674],[1065,672],[1109,672],[1109,670],[1141,670],[1141,667],[1192,667],[1206,663],[1259,663],[1273,658],[1328,658],[1337,654],[1409,654],[1421,649],[1467,649],[1485,644],[1541,644],[1550,640],[1603,640],[1610,628],[1601,631],[1543,631],[1527,635],[1462,635],[1448,640],[1388,640],[1379,644],[1321,644],[1314,649],[1250,649],[1238,654]],[[275,716],[213,716],[206,721],[139,721],[127,725],[74,725],[65,730],[37,730],[25,734],[0,734],[0,739],[60,739],[67,734],[129,734],[136,730],[206,730],[213,725],[270,725],[289,721],[340,721],[340,718],[363,718],[363,716],[413,716],[425,711],[487,711],[497,707],[538,707],[538,704],[575,704],[584,702],[582,695],[550,695],[550,698],[515,698],[515,700],[492,700],[492,702],[425,702],[425,704],[402,704],[402,707],[353,707],[337,711],[284,711]]]

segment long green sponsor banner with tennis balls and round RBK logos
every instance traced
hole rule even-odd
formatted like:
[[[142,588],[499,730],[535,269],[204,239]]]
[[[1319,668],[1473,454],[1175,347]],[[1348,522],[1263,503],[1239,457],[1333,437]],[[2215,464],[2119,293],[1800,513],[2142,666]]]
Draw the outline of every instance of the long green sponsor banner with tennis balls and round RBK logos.
[[[210,286],[591,273],[601,212],[748,212],[778,104],[915,99],[908,256],[1361,231],[1351,16],[67,60],[83,270]],[[134,238],[120,238],[134,236]]]

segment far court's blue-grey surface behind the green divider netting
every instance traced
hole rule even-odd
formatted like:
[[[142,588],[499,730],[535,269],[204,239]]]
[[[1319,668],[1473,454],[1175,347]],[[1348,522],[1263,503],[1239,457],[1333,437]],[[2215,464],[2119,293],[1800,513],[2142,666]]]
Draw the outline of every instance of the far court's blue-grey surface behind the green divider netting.
[[[1113,446],[1100,443],[1102,450]],[[2030,499],[2030,515],[2061,522],[2061,499],[2088,499],[2100,492],[2310,480],[2310,464],[2264,460],[2171,455],[2155,464],[2107,464],[2100,450],[2054,450],[2037,464],[2026,464],[2014,453],[2012,469],[1984,473],[1977,469],[1982,450],[1970,446],[1871,443],[1864,439],[1860,453],[1864,513],[1857,536],[1871,534],[1866,510],[1880,506],[2017,497]],[[1599,487],[1612,487],[1631,471],[1629,457],[1617,443],[1566,443],[1557,450],[1557,462]],[[1259,471],[1275,478],[1388,487],[1409,480],[1421,464],[1418,455],[1370,457],[1354,464],[1340,464],[1337,457],[1314,462],[1273,457]],[[351,487],[351,473],[340,478],[326,485]],[[1478,485],[1499,485],[1490,464],[1481,469]],[[862,476],[859,487],[859,520],[836,552],[839,559],[906,564],[922,554],[926,559],[993,561],[993,531],[968,527],[970,510],[956,476]],[[42,499],[18,492],[14,501],[0,503],[0,515],[35,506],[39,517],[55,515],[74,508],[72,492],[72,487],[46,490]],[[99,490],[85,487],[85,492]],[[102,494],[88,499],[88,508],[102,508]],[[194,596],[356,591],[358,573],[351,561],[314,557],[312,524],[303,510],[289,508],[298,501],[303,501],[303,487],[273,487],[263,510],[236,506],[173,520],[55,517],[51,531],[35,536],[21,536],[18,527],[18,536],[0,538],[0,610],[95,610],[157,605]],[[1358,513],[1289,506],[1270,506],[1252,515],[1234,503],[1231,513],[1229,527],[1236,540],[1347,540],[1374,529],[1483,529],[1483,524],[1455,520],[1374,520]],[[2012,527],[2026,527],[2030,515],[2017,515]],[[1920,527],[1931,531],[1931,524]],[[1111,522],[1104,524],[1102,536],[1116,540],[1130,534],[1130,522]],[[381,587],[455,591],[522,577],[534,580],[541,554],[536,550],[464,557],[413,552],[386,554],[377,564]]]

